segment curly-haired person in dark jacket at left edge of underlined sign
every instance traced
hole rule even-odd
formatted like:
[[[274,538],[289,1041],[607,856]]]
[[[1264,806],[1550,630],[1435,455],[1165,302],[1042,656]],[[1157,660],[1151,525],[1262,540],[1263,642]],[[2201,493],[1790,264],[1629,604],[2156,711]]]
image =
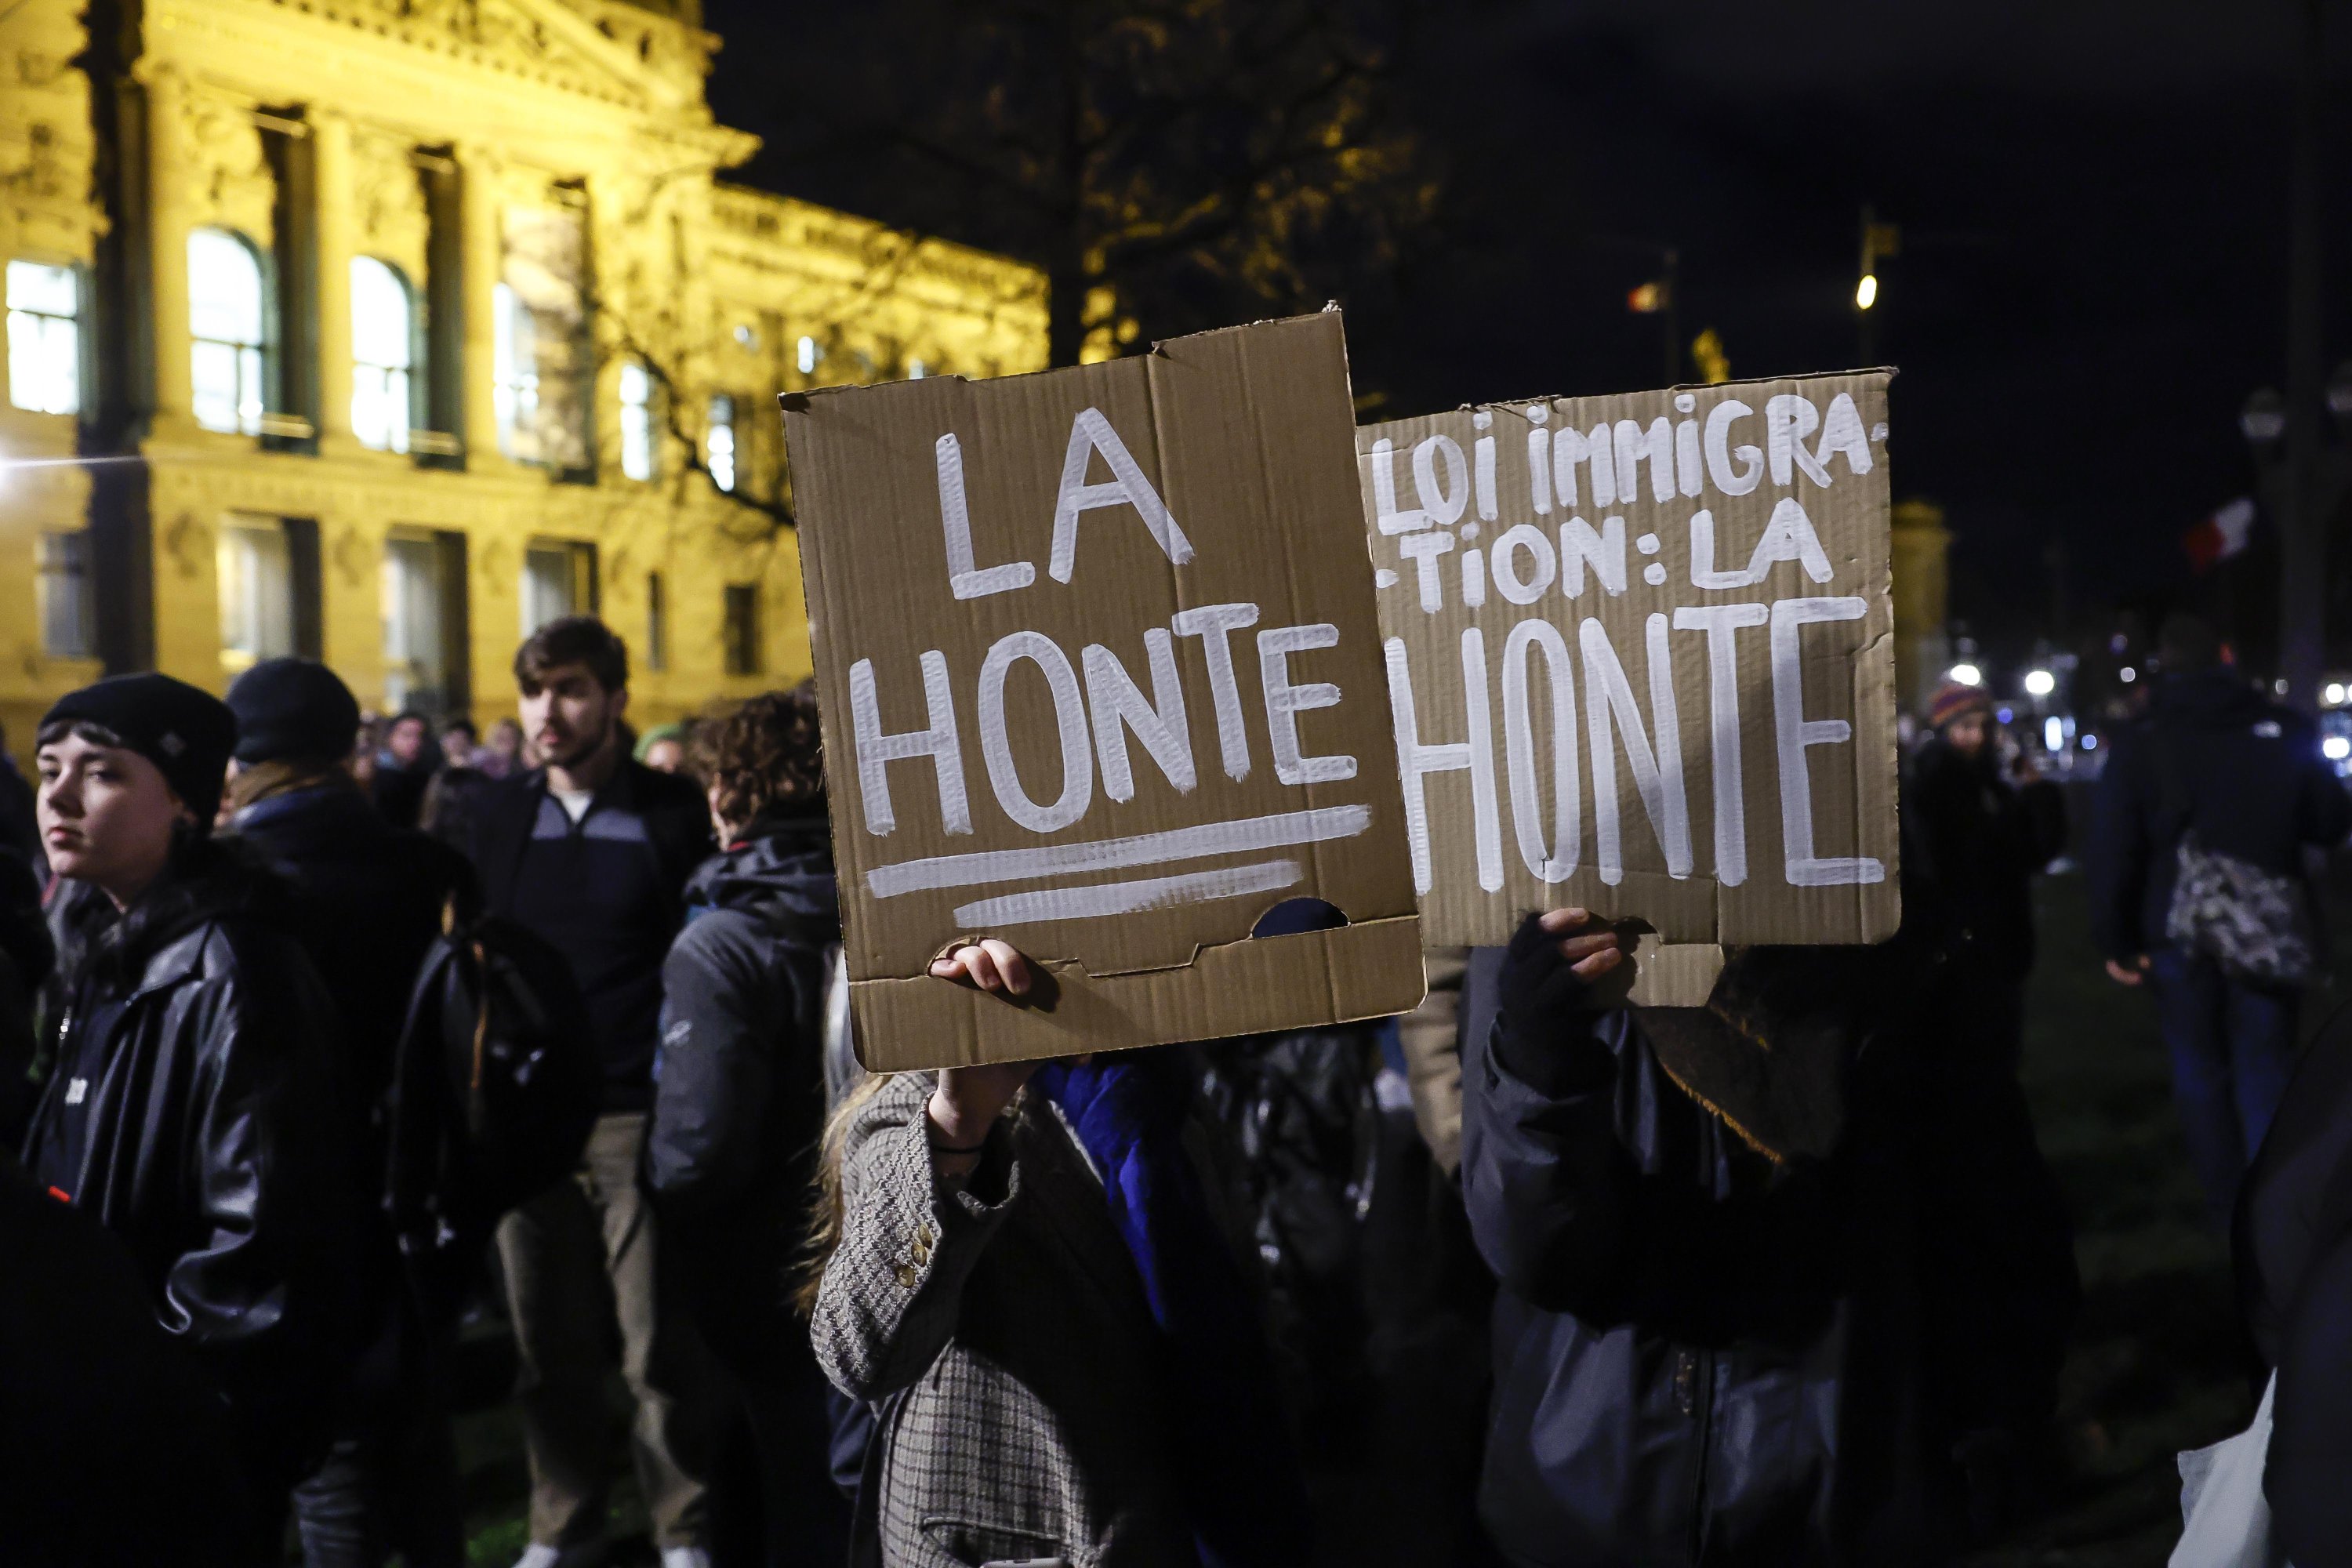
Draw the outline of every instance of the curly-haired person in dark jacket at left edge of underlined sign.
[[[717,1563],[837,1563],[849,1519],[830,1479],[826,1378],[790,1307],[842,940],[816,693],[755,696],[696,752],[724,849],[687,884],[687,929],[661,971],[644,1173],[663,1274],[717,1352],[755,1453],[713,1486]],[[757,1476],[750,1497],[727,1483],[743,1469]]]

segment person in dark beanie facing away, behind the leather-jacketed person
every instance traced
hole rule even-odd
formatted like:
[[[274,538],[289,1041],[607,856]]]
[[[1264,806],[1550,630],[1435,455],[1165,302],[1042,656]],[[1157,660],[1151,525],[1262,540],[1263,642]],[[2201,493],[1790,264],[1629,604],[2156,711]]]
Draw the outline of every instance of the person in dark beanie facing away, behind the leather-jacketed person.
[[[386,1098],[393,1051],[426,947],[473,870],[454,849],[393,827],[346,771],[360,703],[334,670],[270,658],[228,689],[238,715],[230,827],[294,889],[296,933],[327,980],[339,1030],[367,1352],[327,1462],[294,1490],[310,1568],[412,1568],[466,1561],[456,1450],[440,1359],[400,1272],[383,1218]]]

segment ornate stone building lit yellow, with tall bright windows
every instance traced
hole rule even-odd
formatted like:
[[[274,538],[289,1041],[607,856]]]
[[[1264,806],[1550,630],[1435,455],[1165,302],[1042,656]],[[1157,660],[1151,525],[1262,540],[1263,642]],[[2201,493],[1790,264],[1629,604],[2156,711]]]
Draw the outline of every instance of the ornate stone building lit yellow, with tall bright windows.
[[[720,183],[715,49],[696,0],[0,5],[19,752],[101,668],[270,654],[487,719],[590,607],[640,719],[807,672],[776,393],[1037,369],[1044,280]]]

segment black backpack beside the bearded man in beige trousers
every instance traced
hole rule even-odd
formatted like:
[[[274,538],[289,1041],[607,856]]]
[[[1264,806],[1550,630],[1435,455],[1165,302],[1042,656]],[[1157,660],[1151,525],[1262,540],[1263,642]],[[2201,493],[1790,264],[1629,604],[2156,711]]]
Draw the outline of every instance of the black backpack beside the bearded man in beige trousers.
[[[496,1222],[579,1168],[604,1079],[572,964],[485,914],[426,950],[393,1053],[383,1208],[428,1302],[454,1305]]]

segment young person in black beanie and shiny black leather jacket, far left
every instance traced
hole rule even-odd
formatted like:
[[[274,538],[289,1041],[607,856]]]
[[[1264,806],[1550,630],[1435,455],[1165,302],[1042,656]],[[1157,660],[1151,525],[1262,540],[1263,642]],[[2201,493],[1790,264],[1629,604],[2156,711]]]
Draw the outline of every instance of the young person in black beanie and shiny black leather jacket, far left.
[[[348,1366],[355,1215],[327,990],[282,884],[209,835],[233,741],[219,698],[165,675],[42,719],[49,865],[101,896],[71,910],[24,1161],[129,1246],[268,1526]]]

